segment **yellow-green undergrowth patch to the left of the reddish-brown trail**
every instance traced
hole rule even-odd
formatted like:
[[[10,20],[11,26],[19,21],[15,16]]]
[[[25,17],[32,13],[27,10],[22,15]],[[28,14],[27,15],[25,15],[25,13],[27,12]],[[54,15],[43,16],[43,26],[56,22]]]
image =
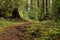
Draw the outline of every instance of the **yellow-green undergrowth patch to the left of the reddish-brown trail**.
[[[18,24],[15,21],[7,21],[4,18],[0,18],[0,32],[2,32],[5,28],[10,27],[12,25]]]

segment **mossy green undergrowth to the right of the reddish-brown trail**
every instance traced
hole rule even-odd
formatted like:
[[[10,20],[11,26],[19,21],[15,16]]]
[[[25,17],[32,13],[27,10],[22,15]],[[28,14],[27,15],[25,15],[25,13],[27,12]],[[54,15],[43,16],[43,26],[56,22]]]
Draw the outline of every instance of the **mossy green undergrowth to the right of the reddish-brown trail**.
[[[37,31],[38,29],[39,32]],[[41,21],[30,25],[27,28],[27,33],[31,40],[60,40],[60,23],[54,20]],[[32,35],[32,33],[35,35]],[[37,39],[36,35],[38,33],[40,34],[40,38]]]

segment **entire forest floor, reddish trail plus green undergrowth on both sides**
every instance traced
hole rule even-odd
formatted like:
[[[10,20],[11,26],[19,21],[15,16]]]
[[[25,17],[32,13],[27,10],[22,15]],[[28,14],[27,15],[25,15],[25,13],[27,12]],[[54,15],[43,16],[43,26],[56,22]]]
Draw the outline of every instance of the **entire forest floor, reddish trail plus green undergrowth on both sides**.
[[[60,40],[60,22],[0,20],[0,40]]]

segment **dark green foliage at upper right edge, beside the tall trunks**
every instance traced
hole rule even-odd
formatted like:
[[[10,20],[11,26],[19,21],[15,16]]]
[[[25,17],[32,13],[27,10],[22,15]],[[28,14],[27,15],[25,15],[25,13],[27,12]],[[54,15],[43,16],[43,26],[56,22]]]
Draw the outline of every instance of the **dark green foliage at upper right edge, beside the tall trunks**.
[[[55,19],[60,19],[60,0],[53,0],[52,11]]]

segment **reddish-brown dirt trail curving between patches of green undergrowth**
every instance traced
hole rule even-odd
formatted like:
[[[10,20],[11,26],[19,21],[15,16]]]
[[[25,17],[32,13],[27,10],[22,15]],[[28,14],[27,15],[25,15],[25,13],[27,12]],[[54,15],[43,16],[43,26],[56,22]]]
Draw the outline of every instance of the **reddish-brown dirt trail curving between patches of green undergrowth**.
[[[32,23],[24,23],[5,28],[0,40],[27,40],[26,28]]]

